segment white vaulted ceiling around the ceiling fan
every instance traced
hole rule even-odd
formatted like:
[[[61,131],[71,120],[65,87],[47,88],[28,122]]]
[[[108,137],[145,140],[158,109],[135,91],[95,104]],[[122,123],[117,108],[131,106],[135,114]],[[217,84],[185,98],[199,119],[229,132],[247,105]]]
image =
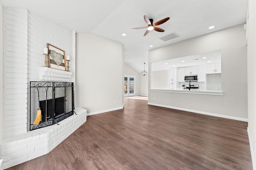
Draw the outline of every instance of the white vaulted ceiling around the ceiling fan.
[[[78,33],[94,34],[120,42],[125,63],[141,72],[148,70],[148,50],[222,30],[246,22],[247,0],[2,0],[4,7],[27,8]],[[150,31],[143,16],[154,22],[170,17]],[[209,30],[209,26],[215,26]],[[164,42],[159,38],[176,32],[180,37]],[[122,36],[125,33],[126,36]],[[149,47],[153,45],[153,47]]]

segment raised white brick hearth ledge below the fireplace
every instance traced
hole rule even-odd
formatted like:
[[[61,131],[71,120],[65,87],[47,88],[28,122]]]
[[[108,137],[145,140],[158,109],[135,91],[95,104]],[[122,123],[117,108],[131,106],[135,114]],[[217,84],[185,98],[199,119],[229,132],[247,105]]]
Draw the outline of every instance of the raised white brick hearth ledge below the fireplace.
[[[77,115],[60,121],[60,125],[54,124],[4,138],[0,144],[0,159],[3,159],[0,169],[10,168],[49,153],[86,122],[86,109],[76,108],[75,111]]]

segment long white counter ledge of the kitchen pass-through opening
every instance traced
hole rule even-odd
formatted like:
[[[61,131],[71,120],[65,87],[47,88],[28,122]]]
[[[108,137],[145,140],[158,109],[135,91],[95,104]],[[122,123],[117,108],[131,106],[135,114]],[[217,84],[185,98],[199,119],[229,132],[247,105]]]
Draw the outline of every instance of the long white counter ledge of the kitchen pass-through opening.
[[[212,91],[205,89],[149,89],[149,91],[165,92],[165,93],[187,93],[198,95],[218,95],[223,96],[223,91]]]

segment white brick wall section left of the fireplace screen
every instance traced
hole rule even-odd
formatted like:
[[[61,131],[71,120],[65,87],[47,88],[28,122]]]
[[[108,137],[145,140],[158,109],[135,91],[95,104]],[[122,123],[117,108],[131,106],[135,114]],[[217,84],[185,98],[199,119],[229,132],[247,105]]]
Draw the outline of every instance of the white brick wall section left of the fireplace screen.
[[[4,8],[4,138],[27,131],[28,11]]]

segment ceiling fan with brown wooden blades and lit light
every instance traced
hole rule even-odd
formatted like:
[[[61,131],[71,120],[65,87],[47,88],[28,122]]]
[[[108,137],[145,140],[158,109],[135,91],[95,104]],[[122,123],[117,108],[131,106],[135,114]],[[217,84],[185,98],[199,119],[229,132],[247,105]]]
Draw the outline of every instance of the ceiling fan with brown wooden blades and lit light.
[[[164,18],[156,23],[153,24],[153,19],[148,19],[148,17],[146,15],[144,15],[144,20],[145,22],[148,24],[148,26],[146,27],[139,27],[139,28],[132,28],[132,29],[142,29],[142,28],[148,28],[144,34],[144,36],[146,36],[148,34],[148,32],[150,30],[155,30],[155,31],[158,31],[158,32],[164,32],[164,30],[162,28],[158,28],[156,26],[160,25],[160,24],[163,24],[165,23],[166,21],[168,21],[170,18],[167,17],[167,18]]]

